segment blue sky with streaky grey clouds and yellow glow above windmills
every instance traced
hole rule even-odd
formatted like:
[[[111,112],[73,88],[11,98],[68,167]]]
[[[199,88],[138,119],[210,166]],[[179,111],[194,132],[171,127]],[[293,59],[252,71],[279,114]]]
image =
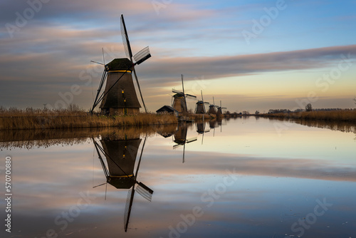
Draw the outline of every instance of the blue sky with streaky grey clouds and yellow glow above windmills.
[[[172,103],[181,74],[187,93],[230,112],[355,108],[356,1],[3,0],[0,9],[5,108],[89,110],[103,72],[90,61],[126,57],[121,14],[132,52],[150,46],[136,71],[152,112]]]

